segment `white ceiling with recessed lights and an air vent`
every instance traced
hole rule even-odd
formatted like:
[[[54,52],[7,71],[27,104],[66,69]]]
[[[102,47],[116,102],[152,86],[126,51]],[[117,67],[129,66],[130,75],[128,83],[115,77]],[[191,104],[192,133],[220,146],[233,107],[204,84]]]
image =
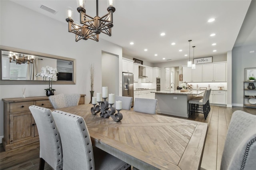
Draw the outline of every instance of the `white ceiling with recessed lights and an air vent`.
[[[79,21],[76,0],[12,1],[66,23],[67,29],[65,10],[70,6],[74,9],[74,21]],[[232,50],[250,2],[250,0],[116,0],[112,36],[100,34],[100,40],[115,43],[123,48],[124,54],[152,63],[189,59],[189,50],[192,59],[192,46],[196,46],[195,58],[223,54]],[[56,10],[57,13],[52,14],[42,10],[41,5]],[[99,16],[107,13],[106,8],[107,1],[99,0]],[[96,0],[86,1],[86,14],[96,16]],[[215,21],[208,22],[210,18],[215,18]],[[162,32],[166,35],[160,36]],[[212,33],[216,36],[211,37]],[[72,33],[67,31],[66,34]],[[188,40],[192,40],[190,47]],[[130,42],[134,42],[134,45],[130,45]],[[176,44],[171,45],[172,42]],[[180,49],[182,51],[179,51]],[[214,49],[216,52],[213,52]],[[185,54],[188,56],[184,56]]]

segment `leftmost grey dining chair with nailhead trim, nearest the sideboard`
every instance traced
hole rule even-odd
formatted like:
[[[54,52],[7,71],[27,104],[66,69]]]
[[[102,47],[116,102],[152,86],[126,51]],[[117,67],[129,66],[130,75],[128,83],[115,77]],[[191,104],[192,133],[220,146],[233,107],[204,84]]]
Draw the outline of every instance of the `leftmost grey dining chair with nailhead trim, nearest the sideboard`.
[[[29,109],[35,119],[40,139],[39,169],[44,169],[46,161],[54,170],[61,170],[63,164],[62,143],[52,117],[52,111],[34,105],[30,106]]]

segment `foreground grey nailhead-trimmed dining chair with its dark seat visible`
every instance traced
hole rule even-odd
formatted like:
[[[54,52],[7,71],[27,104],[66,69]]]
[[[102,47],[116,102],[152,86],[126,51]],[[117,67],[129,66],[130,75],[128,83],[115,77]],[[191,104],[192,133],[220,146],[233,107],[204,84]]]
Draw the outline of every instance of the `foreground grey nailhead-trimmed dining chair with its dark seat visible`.
[[[126,162],[92,146],[84,119],[63,111],[52,115],[60,131],[63,146],[64,170],[125,170]]]

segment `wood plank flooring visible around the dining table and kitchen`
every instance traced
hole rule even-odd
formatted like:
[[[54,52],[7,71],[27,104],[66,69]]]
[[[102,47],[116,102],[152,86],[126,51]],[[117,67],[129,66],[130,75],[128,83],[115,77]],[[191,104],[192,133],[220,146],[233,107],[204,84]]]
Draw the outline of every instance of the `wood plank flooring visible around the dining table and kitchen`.
[[[220,107],[211,106],[211,111],[204,119],[203,114],[198,114],[188,119],[208,123],[208,132],[202,157],[202,170],[219,170],[226,133],[232,113],[236,110],[246,111],[256,115],[255,108]],[[161,114],[162,115],[162,114]],[[166,115],[169,116],[169,115]],[[39,167],[39,142],[20,148],[4,151],[0,145],[0,170],[36,170]],[[46,163],[45,170],[52,170]]]

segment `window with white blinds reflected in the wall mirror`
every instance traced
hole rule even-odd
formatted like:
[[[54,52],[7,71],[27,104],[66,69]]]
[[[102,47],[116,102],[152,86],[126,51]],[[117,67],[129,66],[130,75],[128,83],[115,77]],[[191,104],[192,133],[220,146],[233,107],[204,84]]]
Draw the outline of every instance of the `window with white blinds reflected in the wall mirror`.
[[[28,64],[16,64],[16,62],[10,63],[10,59],[6,56],[2,56],[2,79],[3,80],[26,80]]]

